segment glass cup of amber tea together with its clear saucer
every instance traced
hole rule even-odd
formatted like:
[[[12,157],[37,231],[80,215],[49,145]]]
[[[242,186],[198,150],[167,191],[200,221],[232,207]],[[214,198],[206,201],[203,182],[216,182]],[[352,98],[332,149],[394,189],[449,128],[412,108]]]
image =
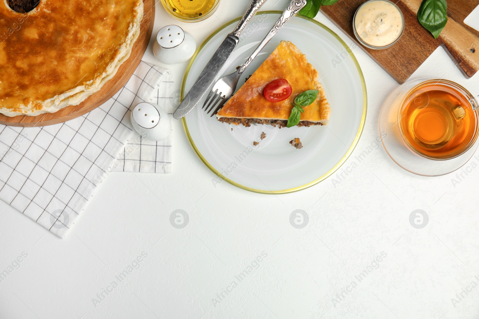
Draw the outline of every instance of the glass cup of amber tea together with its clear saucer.
[[[379,120],[382,143],[402,168],[438,176],[466,164],[478,147],[478,101],[461,85],[419,78],[394,90]]]

